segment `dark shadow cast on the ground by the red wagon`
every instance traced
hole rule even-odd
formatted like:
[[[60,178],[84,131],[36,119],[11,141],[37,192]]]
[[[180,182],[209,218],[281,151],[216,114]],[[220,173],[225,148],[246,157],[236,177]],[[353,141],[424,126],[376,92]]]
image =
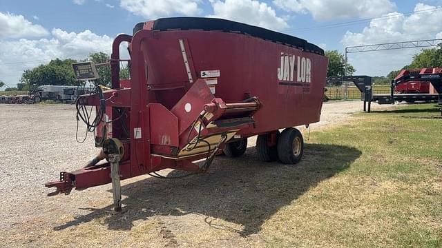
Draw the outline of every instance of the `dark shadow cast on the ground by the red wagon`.
[[[104,217],[109,229],[128,230],[135,220],[154,215],[193,213],[238,223],[244,229],[233,231],[247,236],[260,231],[265,220],[278,209],[290,205],[322,180],[347,169],[359,156],[361,152],[353,147],[306,144],[301,163],[282,165],[258,161],[256,148],[249,147],[241,158],[218,156],[208,174],[170,180],[146,178],[124,185],[122,192],[127,198],[122,201],[126,205],[123,214],[109,214],[112,205],[90,209],[90,214],[54,229]],[[183,173],[186,172],[173,171],[168,176]],[[211,225],[209,218],[206,223]]]

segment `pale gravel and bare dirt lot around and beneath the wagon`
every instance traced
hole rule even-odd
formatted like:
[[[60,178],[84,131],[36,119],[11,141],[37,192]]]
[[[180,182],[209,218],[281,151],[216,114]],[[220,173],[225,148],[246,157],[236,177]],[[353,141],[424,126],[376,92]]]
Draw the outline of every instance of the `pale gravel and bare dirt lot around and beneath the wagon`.
[[[374,110],[385,107],[392,106],[372,105]],[[361,101],[325,103],[322,120],[311,125],[311,131],[340,125],[361,109]],[[275,169],[273,163],[258,161],[255,139],[250,138],[242,158],[218,156],[208,174],[179,180],[150,176],[124,180],[126,207],[124,213],[115,214],[111,185],[46,196],[50,190],[44,183],[57,180],[61,171],[82,167],[97,153],[92,135],[83,144],[75,141],[76,125],[73,105],[0,105],[2,246],[266,246],[260,236],[266,221],[319,180],[332,176],[316,176],[316,181],[297,185],[296,194],[289,197],[262,197],[262,187],[278,187],[275,176],[309,176],[302,167],[315,162],[317,151],[306,149],[298,169],[289,172],[288,166]],[[80,128],[79,137],[84,131]]]

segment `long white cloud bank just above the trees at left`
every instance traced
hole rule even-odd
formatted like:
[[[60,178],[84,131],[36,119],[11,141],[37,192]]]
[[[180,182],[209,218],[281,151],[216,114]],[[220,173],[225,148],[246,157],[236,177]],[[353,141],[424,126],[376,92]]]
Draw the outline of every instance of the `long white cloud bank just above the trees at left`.
[[[50,39],[19,39],[0,41],[0,80],[13,87],[19,83],[23,70],[33,68],[51,59],[85,59],[92,52],[111,54],[113,39],[90,30],[66,32],[52,29]],[[123,46],[122,46],[123,47]],[[124,49],[122,48],[122,54]]]

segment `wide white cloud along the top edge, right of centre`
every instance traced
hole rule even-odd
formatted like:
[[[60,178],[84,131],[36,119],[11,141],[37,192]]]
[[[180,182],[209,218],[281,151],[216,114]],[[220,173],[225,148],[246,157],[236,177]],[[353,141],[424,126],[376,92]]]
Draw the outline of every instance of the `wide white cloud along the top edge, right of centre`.
[[[377,17],[396,8],[391,0],[273,0],[273,3],[287,12],[309,12],[316,21]]]

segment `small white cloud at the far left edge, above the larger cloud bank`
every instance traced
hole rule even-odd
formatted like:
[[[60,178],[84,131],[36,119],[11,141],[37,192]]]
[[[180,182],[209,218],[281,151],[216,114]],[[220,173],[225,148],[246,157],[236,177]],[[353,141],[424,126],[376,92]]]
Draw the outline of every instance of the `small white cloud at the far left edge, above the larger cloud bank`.
[[[44,37],[48,34],[48,30],[31,23],[22,15],[0,12],[0,39]]]

